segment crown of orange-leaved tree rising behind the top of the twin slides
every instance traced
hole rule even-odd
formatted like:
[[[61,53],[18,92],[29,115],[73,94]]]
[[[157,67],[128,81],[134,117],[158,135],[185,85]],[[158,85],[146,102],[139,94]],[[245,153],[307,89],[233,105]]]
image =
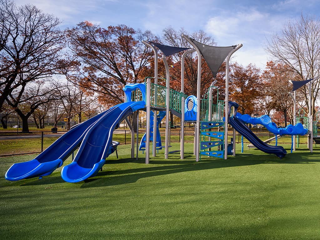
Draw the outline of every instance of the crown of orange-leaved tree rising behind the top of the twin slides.
[[[125,25],[102,28],[88,21],[66,32],[70,49],[80,62],[79,71],[68,77],[87,91],[99,93],[100,102],[108,106],[122,103],[126,84],[144,81],[151,70],[153,76],[153,69],[147,67],[153,52],[141,43],[156,41],[151,32]]]

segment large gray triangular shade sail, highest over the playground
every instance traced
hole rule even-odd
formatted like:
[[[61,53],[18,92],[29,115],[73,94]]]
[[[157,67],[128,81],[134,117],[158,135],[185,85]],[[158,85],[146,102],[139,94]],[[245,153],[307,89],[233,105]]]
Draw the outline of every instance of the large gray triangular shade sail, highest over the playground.
[[[214,77],[217,76],[217,72],[223,63],[224,59],[228,56],[228,54],[236,47],[229,46],[229,47],[215,47],[205,45],[203,43],[199,43],[194,39],[190,40],[198,47],[200,53],[204,57],[204,60],[207,62],[209,68]]]

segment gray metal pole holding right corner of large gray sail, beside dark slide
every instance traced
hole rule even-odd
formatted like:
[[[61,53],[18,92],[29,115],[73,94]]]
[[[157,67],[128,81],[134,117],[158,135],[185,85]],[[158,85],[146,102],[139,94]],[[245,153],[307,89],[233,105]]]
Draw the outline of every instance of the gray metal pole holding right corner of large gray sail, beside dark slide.
[[[224,130],[224,159],[228,159],[228,102],[229,102],[229,61],[231,55],[242,47],[242,43],[236,46],[229,54],[226,59],[226,97],[225,97],[225,130]]]

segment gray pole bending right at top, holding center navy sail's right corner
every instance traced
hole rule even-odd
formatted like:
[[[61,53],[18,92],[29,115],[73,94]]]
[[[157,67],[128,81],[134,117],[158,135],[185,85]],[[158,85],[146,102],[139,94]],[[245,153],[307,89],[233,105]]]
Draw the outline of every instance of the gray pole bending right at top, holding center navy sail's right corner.
[[[181,93],[184,94],[184,59],[188,53],[195,52],[195,49],[185,51],[181,57]],[[180,135],[180,159],[184,159],[184,105],[185,97],[181,97],[181,135]]]

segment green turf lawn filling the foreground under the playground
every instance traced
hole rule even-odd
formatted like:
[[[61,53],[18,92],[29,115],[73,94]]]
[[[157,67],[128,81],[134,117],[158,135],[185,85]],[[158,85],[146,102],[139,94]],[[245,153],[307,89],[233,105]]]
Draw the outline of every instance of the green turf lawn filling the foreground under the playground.
[[[0,239],[320,239],[320,150],[283,146],[284,159],[237,144],[236,157],[196,163],[186,143],[185,160],[162,151],[145,165],[120,145],[119,159],[79,183],[61,168],[6,181],[14,162],[36,155],[3,157]]]

